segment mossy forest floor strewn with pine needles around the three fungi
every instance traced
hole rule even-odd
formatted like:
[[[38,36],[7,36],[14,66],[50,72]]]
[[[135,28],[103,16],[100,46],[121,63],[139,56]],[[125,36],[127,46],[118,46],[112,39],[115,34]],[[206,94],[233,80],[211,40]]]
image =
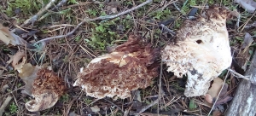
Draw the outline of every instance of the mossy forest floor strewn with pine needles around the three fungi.
[[[44,9],[50,1],[54,2],[53,5],[49,9]],[[57,4],[61,2],[64,3],[58,6]],[[249,65],[256,44],[254,41],[245,44],[245,41],[250,39],[245,35],[248,33],[247,36],[251,39],[255,38],[255,13],[248,13],[239,4],[232,3],[232,0],[154,0],[153,3],[127,14],[102,18],[122,13],[144,2],[145,0],[2,0],[0,23],[8,26],[9,30],[16,29],[15,34],[25,39],[27,43],[34,44],[44,38],[64,35],[61,38],[44,41],[44,47],[35,46],[38,50],[26,49],[26,62],[32,66],[49,63],[53,71],[65,80],[67,86],[67,91],[54,107],[35,113],[27,111],[25,103],[33,98],[21,92],[25,83],[11,64],[7,63],[9,55],[15,55],[19,49],[24,49],[24,46],[6,45],[0,41],[0,107],[8,96],[12,97],[3,115],[121,116],[140,112],[143,112],[140,115],[148,116],[223,114],[231,101],[212,108],[211,105],[205,104],[202,96],[184,96],[186,77],[176,78],[173,73],[167,73],[165,65],[162,67],[161,77],[161,90],[164,93],[162,96],[159,96],[160,77],[154,78],[154,84],[148,88],[132,91],[132,97],[124,100],[113,100],[108,97],[98,100],[86,96],[80,87],[73,87],[80,67],[85,67],[96,56],[108,53],[109,47],[123,44],[129,34],[141,35],[154,47],[164,47],[172,41],[173,36],[160,24],[176,32],[189,16],[196,17],[205,10],[204,6],[212,4],[225,6],[230,10],[236,9],[241,14],[239,26],[236,26],[237,17],[227,21],[231,53],[234,53],[230,68],[241,74],[247,71],[244,67]],[[26,20],[38,14],[39,10],[44,10],[44,13],[39,14],[35,21],[26,23]],[[83,21],[84,23],[79,25]],[[76,30],[72,32],[73,29]],[[235,78],[227,70],[219,78],[225,79],[225,83],[228,84],[226,93],[233,97],[240,78]],[[157,101],[159,97],[160,101]],[[213,110],[210,113],[211,109]]]

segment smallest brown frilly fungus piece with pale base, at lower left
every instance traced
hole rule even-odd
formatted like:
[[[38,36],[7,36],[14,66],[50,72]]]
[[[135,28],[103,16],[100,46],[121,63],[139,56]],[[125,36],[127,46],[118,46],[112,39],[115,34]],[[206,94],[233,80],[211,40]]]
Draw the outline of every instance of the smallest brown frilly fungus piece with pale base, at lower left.
[[[65,90],[64,81],[49,69],[39,69],[32,84],[32,96],[35,100],[26,102],[26,109],[37,112],[53,107]]]

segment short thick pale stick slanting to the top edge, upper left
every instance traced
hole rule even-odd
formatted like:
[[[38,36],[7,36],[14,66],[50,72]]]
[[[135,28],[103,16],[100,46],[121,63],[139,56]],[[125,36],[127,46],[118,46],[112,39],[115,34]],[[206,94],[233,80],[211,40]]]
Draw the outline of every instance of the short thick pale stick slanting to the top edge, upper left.
[[[51,6],[53,6],[54,3],[55,3],[55,0],[50,0],[49,3],[44,7],[44,9],[40,9],[39,12],[38,12],[38,14],[33,15],[31,18],[29,18],[28,20],[26,20],[26,21],[24,22],[24,24],[21,25],[21,26],[26,26],[26,25],[28,25],[28,24],[30,24],[30,23],[32,23],[32,25],[33,25],[34,22],[35,22],[36,20],[38,20],[38,17],[40,17],[42,14],[44,14],[44,12],[45,12],[47,9],[49,9]]]

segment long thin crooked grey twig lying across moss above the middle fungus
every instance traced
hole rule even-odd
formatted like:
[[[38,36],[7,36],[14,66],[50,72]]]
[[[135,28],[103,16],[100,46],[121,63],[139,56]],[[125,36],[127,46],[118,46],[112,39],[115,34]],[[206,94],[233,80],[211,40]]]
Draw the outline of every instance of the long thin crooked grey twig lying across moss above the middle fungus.
[[[95,21],[95,20],[109,20],[109,19],[113,19],[113,18],[119,17],[120,15],[127,14],[127,13],[129,13],[129,12],[135,10],[135,9],[139,9],[139,8],[143,7],[144,5],[146,5],[146,4],[148,4],[148,3],[151,3],[152,1],[153,1],[153,0],[147,0],[146,2],[141,3],[141,4],[137,5],[136,7],[132,8],[132,9],[125,10],[124,12],[121,12],[121,13],[119,13],[119,14],[100,16],[100,17],[96,17],[96,18],[94,18],[94,19],[85,19],[85,20],[83,20],[82,22],[80,22],[79,25],[76,26],[76,27],[73,29],[72,32],[68,32],[66,35],[55,36],[55,37],[51,37],[51,38],[44,38],[44,39],[38,41],[38,42],[35,43],[35,44],[39,44],[39,43],[42,43],[42,42],[44,42],[44,41],[47,41],[47,40],[50,40],[50,39],[54,39],[54,38],[66,38],[67,36],[72,35],[73,32],[75,32],[75,31],[79,28],[79,26],[81,26],[81,25],[84,24],[84,22],[90,22],[90,21]]]

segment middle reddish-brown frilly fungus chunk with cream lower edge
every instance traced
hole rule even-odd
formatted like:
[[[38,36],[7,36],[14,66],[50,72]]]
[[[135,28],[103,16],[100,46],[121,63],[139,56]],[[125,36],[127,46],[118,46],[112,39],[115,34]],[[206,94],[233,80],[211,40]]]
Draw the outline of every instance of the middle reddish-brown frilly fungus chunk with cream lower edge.
[[[159,49],[143,44],[142,38],[132,35],[107,55],[99,56],[81,68],[74,86],[81,86],[87,96],[103,98],[131,96],[131,90],[146,88],[158,75],[155,61]],[[116,98],[117,98],[116,97]]]

